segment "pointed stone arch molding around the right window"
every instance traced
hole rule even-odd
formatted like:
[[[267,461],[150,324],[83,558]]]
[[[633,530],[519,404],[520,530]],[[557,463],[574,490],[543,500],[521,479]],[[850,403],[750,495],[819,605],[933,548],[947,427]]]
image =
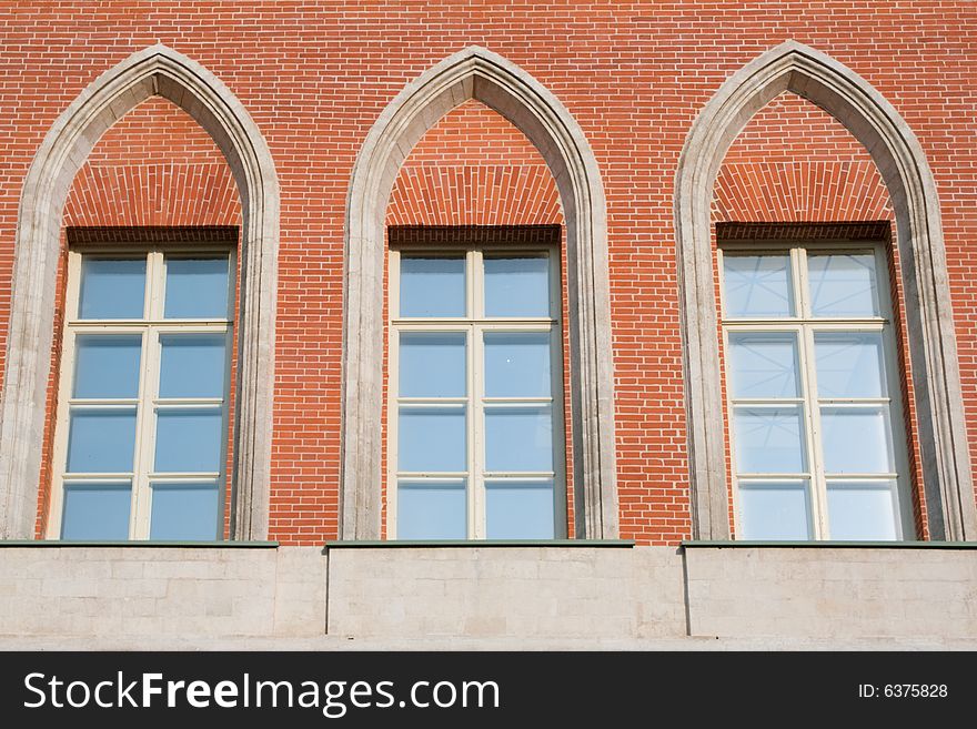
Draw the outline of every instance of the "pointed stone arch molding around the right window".
[[[709,239],[713,185],[731,143],[774,97],[792,91],[840,121],[875,160],[896,212],[896,239],[933,539],[977,539],[960,373],[939,201],[909,126],[865,79],[787,41],[729,77],[693,123],[678,162],[675,230],[685,344],[693,523],[729,537],[723,399]]]

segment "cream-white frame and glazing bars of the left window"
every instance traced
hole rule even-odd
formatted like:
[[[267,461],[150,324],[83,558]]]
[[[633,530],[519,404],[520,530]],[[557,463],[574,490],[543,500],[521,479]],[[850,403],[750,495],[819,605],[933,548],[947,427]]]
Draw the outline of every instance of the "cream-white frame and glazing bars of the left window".
[[[164,318],[163,294],[167,282],[167,257],[228,257],[228,311],[224,318]],[[143,297],[143,317],[140,320],[98,320],[79,318],[79,297],[81,292],[82,261],[91,259],[144,260],[145,288]],[[199,483],[214,480],[218,487],[218,524],[215,535],[224,538],[226,509],[226,462],[228,441],[221,450],[220,469],[208,473],[155,473],[151,465],[155,456],[155,408],[158,406],[179,409],[208,408],[221,409],[221,433],[229,428],[230,372],[232,343],[234,336],[234,292],[236,279],[236,255],[226,246],[195,245],[153,245],[153,246],[85,246],[83,250],[69,250],[68,280],[64,297],[64,325],[61,344],[61,371],[58,384],[58,407],[54,424],[52,448],[52,478],[48,528],[46,538],[60,539],[64,508],[64,484],[90,483],[132,483],[132,500],[129,512],[129,539],[149,539],[152,514],[152,482],[168,485],[180,482]],[[81,399],[72,398],[74,383],[75,341],[80,334],[139,334],[142,337],[142,350],[139,364],[139,393],[132,399]],[[224,334],[224,393],[223,397],[189,397],[160,398],[160,358],[162,347],[160,336],[171,334]],[[80,473],[67,472],[68,435],[70,408],[72,405],[93,405],[112,407],[135,406],[135,452],[133,469],[128,474]]]

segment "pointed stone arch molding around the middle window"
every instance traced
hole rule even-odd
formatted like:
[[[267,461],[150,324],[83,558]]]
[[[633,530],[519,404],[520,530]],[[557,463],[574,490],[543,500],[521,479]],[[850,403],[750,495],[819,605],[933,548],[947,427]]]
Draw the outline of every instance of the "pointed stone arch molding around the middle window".
[[[617,536],[604,190],[583,131],[528,73],[479,47],[443,60],[383,110],[356,159],[346,206],[342,508],[344,539],[381,531],[384,215],[401,163],[441,117],[476,99],[517,126],[556,181],[567,240],[577,536]]]

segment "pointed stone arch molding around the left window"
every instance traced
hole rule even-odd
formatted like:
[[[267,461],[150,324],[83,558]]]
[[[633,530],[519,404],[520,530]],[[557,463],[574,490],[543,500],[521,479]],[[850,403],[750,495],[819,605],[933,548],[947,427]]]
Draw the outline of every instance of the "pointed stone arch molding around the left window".
[[[61,215],[75,173],[101,135],[145,99],[187,111],[224,154],[243,212],[232,535],[268,534],[279,183],[254,121],[212,73],[167,48],[143,49],[92,82],[54,121],[24,180],[16,240],[0,409],[0,528],[33,536],[50,371]]]

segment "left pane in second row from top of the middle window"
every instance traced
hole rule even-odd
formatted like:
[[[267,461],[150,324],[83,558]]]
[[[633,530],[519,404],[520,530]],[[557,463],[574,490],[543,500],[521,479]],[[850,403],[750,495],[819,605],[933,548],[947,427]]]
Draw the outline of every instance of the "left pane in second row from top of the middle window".
[[[401,397],[464,397],[465,379],[464,332],[401,332]]]

